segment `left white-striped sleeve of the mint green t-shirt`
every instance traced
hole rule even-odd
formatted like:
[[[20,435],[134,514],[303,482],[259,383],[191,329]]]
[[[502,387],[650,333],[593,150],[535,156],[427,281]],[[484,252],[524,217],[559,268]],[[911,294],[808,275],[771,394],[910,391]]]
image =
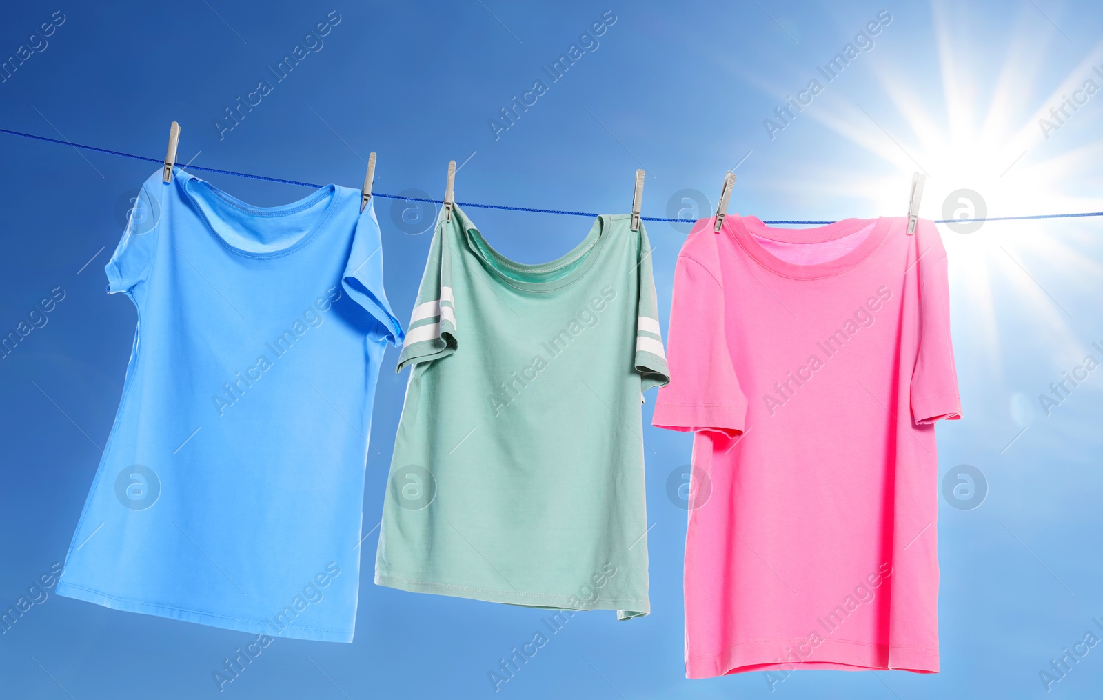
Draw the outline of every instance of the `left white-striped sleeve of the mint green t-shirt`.
[[[421,286],[418,288],[417,301],[410,314],[409,326],[406,327],[406,341],[398,356],[396,372],[401,372],[408,364],[431,362],[456,351],[458,335],[456,332],[456,295],[451,282],[451,253],[449,241],[452,230],[460,225],[463,216],[454,209],[451,222],[446,222],[441,215],[429,246],[429,258],[421,275]]]

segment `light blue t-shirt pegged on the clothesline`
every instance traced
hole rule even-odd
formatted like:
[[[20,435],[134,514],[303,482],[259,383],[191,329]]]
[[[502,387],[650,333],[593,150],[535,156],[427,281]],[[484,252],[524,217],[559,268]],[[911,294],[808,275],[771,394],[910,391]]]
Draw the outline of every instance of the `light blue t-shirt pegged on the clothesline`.
[[[250,206],[180,169],[136,204],[106,269],[138,331],[57,593],[352,641],[372,400],[403,341],[375,213],[332,184]]]

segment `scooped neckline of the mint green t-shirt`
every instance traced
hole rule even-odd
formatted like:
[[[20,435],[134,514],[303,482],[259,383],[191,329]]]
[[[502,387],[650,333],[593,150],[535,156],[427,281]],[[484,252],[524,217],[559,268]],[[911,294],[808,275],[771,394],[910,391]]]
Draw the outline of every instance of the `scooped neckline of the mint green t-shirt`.
[[[500,282],[524,291],[548,293],[563,289],[579,282],[597,263],[604,248],[606,240],[609,237],[612,223],[617,220],[628,219],[629,214],[599,214],[595,218],[589,233],[582,241],[564,255],[547,263],[526,264],[513,261],[497,251],[486,242],[478,226],[458,206],[452,213],[461,227],[464,243],[471,252],[483,263],[483,267]],[[554,279],[518,279],[506,271],[521,275],[538,276],[555,272],[556,269],[578,263],[575,269],[563,277]],[[504,269],[503,269],[504,268]]]

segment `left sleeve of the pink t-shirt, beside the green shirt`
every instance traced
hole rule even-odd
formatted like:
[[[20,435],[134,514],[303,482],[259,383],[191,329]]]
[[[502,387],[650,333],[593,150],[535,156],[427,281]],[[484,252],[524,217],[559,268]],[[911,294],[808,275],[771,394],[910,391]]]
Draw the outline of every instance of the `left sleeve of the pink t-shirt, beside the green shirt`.
[[[707,236],[700,237],[700,236]],[[747,397],[725,330],[725,299],[711,226],[692,233],[678,255],[666,339],[671,382],[658,390],[652,423],[672,431],[743,431]]]

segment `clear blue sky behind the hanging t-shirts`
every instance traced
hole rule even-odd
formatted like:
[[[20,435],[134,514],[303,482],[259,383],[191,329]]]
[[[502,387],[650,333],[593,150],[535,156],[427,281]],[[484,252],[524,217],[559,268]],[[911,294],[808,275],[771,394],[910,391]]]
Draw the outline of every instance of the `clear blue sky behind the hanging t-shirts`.
[[[603,18],[600,35],[580,39]],[[328,33],[307,38],[325,22]],[[35,30],[47,35],[32,39]],[[902,215],[914,171],[928,174],[929,219],[975,211],[982,199],[989,216],[1097,212],[1103,95],[1061,105],[1088,81],[1103,86],[1101,30],[1099,3],[1053,0],[28,2],[0,26],[0,56],[20,46],[29,55],[0,72],[0,128],[161,158],[176,120],[181,161],[357,188],[374,150],[377,192],[438,199],[454,159],[461,202],[579,212],[629,210],[636,168],[647,171],[645,216],[708,215],[732,168],[729,210],[767,220]],[[845,70],[825,68],[852,43]],[[571,44],[582,55],[554,78]],[[307,57],[277,79],[297,45]],[[258,92],[261,81],[268,91]],[[500,110],[515,96],[531,104],[503,129]],[[779,123],[790,96],[807,104]],[[239,97],[254,106],[231,129],[226,108]],[[0,361],[7,607],[64,558],[110,431],[136,314],[105,294],[101,269],[121,232],[120,200],[158,166],[7,134],[0,163],[0,330],[64,291],[49,321]],[[259,205],[306,193],[199,174]],[[429,235],[401,223],[390,200],[377,208],[388,296],[408,318]],[[578,216],[467,211],[497,250],[527,263],[563,254],[589,229]],[[665,327],[685,230],[653,222],[647,231]],[[1103,370],[1049,415],[1039,401],[1085,354],[1103,359],[1091,347],[1103,347],[1103,218],[941,231],[965,420],[938,428],[940,476],[967,464],[987,485],[978,508],[940,506],[942,672],[802,671],[774,693],[761,674],[685,680],[685,511],[666,481],[688,462],[689,439],[647,428],[652,615],[576,617],[499,696],[1047,694],[1039,671],[1093,617],[1103,621]],[[385,368],[395,359],[388,351]],[[379,381],[368,527],[406,381],[389,370]],[[222,696],[489,698],[488,671],[540,617],[379,587],[367,561],[354,644],[279,639]],[[0,676],[13,698],[214,698],[212,671],[250,638],[51,594],[0,635]],[[1049,694],[1095,697],[1101,683],[1103,646]]]

